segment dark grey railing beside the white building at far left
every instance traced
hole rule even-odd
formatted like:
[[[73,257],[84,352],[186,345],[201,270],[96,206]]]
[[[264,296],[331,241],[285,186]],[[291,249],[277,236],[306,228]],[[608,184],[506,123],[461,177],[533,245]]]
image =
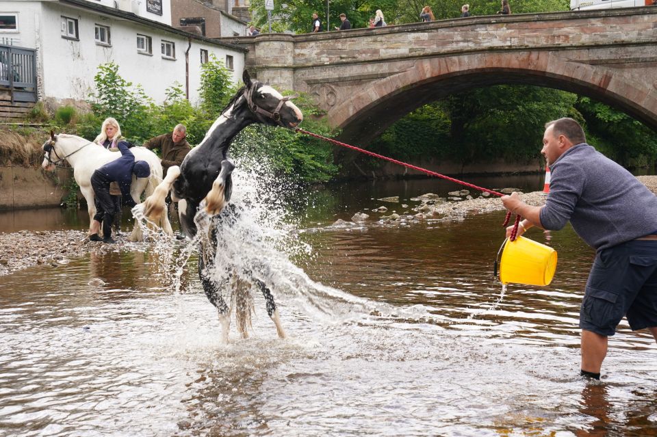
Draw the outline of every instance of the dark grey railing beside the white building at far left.
[[[36,50],[0,44],[0,89],[14,101],[36,102]]]

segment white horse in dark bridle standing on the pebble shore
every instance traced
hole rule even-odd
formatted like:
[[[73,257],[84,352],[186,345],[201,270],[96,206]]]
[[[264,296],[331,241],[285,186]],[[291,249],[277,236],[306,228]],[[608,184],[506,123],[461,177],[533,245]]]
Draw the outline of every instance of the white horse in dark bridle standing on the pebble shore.
[[[43,144],[44,159],[41,164],[44,170],[54,170],[55,165],[68,161],[73,167],[73,177],[80,187],[82,195],[87,201],[87,211],[89,213],[89,226],[96,215],[96,203],[94,202],[94,189],[91,186],[91,176],[98,168],[106,163],[113,161],[121,156],[120,153],[111,152],[99,144],[95,144],[76,135],[67,135],[60,133],[55,135],[51,131],[51,139]],[[136,160],[142,160],[151,166],[151,176],[148,178],[137,178],[132,176],[132,185],[130,186],[130,195],[139,203],[142,192],[146,196],[151,196],[155,188],[162,182],[162,164],[159,157],[151,150],[144,147],[133,147],[130,149],[135,155]],[[166,214],[158,217],[156,223],[168,235],[173,235],[171,224]],[[142,241],[142,230],[138,223],[135,224],[130,241]]]

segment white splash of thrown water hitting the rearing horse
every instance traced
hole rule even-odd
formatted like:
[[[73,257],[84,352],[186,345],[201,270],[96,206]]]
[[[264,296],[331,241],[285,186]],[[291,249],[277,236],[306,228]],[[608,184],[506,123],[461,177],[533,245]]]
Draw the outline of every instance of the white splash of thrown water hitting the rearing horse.
[[[230,204],[215,216],[199,208],[194,217],[198,233],[173,263],[176,274],[189,259],[191,248],[208,245],[214,233],[217,252],[210,274],[219,284],[229,286],[237,276],[250,282],[251,293],[258,293],[255,283],[261,281],[277,304],[292,304],[313,319],[329,323],[371,317],[442,319],[424,306],[374,302],[311,280],[291,261],[292,256],[313,255],[312,248],[298,239],[298,222],[285,208],[282,193],[293,187],[274,176],[262,159],[238,159],[235,163]],[[157,246],[158,252],[166,251],[167,243]],[[162,261],[167,260],[163,256]],[[179,283],[176,274],[172,277]],[[224,300],[229,296],[230,287],[226,287]]]

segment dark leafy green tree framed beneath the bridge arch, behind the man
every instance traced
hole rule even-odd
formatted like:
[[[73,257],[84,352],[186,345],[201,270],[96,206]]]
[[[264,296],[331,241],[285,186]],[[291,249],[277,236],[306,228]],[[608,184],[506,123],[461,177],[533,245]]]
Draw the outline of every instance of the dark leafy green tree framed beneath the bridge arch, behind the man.
[[[463,165],[504,158],[541,159],[546,121],[573,115],[576,95],[534,86],[478,88],[424,105],[372,143],[401,159],[433,157]]]

